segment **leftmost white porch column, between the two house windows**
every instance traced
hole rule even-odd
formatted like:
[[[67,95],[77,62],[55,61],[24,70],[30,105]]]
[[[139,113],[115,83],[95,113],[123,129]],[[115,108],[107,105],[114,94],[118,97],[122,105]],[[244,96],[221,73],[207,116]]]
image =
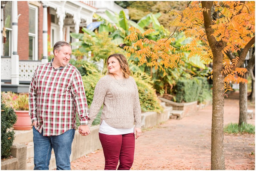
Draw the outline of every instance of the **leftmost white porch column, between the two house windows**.
[[[11,55],[12,73],[11,84],[19,85],[19,55],[18,55],[18,5],[17,1],[12,1],[12,48]]]

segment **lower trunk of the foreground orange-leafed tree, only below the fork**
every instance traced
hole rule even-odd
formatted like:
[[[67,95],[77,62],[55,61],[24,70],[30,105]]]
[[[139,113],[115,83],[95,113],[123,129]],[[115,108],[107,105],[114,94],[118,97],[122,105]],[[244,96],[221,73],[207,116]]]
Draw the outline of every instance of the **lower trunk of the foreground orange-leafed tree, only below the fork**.
[[[211,170],[225,170],[223,143],[224,77],[221,74],[223,55],[220,53],[213,57]]]

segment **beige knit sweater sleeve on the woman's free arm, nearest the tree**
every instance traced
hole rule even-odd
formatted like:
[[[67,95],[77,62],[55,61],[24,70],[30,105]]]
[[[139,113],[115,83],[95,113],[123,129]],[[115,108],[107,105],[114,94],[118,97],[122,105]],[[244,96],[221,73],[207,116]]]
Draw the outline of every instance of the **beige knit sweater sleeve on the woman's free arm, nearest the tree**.
[[[136,128],[141,128],[141,108],[140,108],[139,92],[134,79],[133,79],[133,82],[135,87],[134,103],[133,103],[134,123]]]

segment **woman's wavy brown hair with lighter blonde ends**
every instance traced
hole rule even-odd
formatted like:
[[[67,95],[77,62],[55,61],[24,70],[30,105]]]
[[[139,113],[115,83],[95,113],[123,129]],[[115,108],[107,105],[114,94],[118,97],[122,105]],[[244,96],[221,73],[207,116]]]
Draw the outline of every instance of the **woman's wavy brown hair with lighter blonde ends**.
[[[124,78],[129,78],[129,76],[131,75],[131,71],[129,69],[129,65],[128,65],[128,62],[127,62],[127,59],[125,58],[125,56],[122,54],[112,54],[112,55],[108,56],[108,59],[110,57],[116,57],[116,59],[118,60],[118,62],[120,64]],[[107,69],[108,69],[108,59],[107,59]],[[107,74],[108,75],[111,74],[109,72],[109,69],[107,71]]]

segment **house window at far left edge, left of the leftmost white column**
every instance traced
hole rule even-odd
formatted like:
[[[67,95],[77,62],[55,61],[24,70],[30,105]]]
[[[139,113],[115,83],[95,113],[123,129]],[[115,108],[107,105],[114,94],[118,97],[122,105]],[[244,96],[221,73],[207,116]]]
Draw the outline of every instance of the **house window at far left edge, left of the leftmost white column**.
[[[6,37],[3,37],[2,44],[2,56],[11,56],[12,54],[12,1],[8,1],[4,6],[4,27],[3,34],[5,33]]]

